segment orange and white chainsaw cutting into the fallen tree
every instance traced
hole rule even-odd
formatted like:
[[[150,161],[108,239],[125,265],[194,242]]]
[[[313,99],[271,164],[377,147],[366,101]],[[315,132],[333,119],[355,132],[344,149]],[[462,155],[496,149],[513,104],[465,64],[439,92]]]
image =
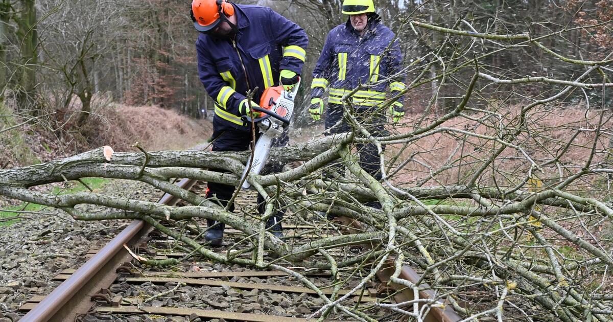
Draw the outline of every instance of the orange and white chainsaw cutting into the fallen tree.
[[[284,90],[283,86],[268,87],[262,94],[260,107],[252,107],[254,111],[259,112],[259,117],[254,118],[253,121],[257,123],[260,136],[253,149],[253,155],[247,160],[241,181],[248,173],[259,174],[266,165],[273,139],[281,136],[291,122],[294,113],[294,99],[299,86],[300,79],[290,91]],[[245,118],[251,122],[251,118]],[[242,188],[246,190],[249,187],[251,183],[245,180]]]

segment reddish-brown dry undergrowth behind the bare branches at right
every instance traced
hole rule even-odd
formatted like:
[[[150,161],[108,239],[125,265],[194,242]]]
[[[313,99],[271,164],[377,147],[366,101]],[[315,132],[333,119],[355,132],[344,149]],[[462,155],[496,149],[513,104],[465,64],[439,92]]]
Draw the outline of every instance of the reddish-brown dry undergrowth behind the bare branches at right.
[[[440,127],[462,129],[490,137],[500,137],[501,133],[511,133],[518,124],[519,107],[501,110],[498,116],[474,113],[471,115],[479,121],[468,118],[454,118],[445,122]],[[587,117],[586,117],[587,116]],[[400,133],[413,131],[421,115],[408,115],[405,126],[397,126],[395,130]],[[588,155],[594,144],[595,132],[584,129],[597,128],[600,120],[599,112],[585,114],[584,110],[576,109],[551,109],[543,107],[533,110],[527,118],[529,131],[522,131],[514,144],[520,147],[532,158],[536,164],[544,163],[555,158],[559,151],[579,131],[573,140],[571,147],[560,157],[557,164],[536,172],[541,180],[560,180],[577,167],[582,167],[587,162]],[[422,126],[432,122],[433,118],[427,118]],[[602,122],[601,131],[608,131],[613,126],[612,121],[606,118]],[[506,129],[501,131],[501,126]],[[603,161],[606,157],[604,150],[609,146],[609,136],[601,136],[596,142],[595,162]],[[493,151],[500,147],[498,142],[479,137],[465,136],[458,132],[439,132],[422,137],[407,145],[402,151],[398,161],[400,164],[413,156],[403,169],[398,172],[395,182],[403,185],[414,186],[416,183],[424,185],[449,185],[465,183],[474,172],[484,164],[484,161],[492,156]],[[389,148],[388,158],[394,156],[400,150],[400,145]],[[450,166],[433,177],[430,173]],[[507,148],[497,160],[482,175],[480,186],[516,185],[519,180],[525,178],[531,163],[524,154],[514,148]],[[559,167],[558,167],[559,166]],[[562,172],[560,172],[562,169]],[[430,177],[428,179],[428,177]]]

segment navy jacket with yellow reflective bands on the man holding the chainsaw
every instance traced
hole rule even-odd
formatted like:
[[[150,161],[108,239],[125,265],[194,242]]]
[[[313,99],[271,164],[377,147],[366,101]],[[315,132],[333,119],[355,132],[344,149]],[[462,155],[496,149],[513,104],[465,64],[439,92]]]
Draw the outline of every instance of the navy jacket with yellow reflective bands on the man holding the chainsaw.
[[[242,120],[240,110],[248,110],[246,93],[257,91],[259,102],[264,90],[279,85],[281,69],[300,74],[308,45],[307,33],[268,7],[232,4],[237,15],[235,39],[200,34],[196,41],[198,72],[207,93],[216,102],[215,131],[241,129],[251,124]]]

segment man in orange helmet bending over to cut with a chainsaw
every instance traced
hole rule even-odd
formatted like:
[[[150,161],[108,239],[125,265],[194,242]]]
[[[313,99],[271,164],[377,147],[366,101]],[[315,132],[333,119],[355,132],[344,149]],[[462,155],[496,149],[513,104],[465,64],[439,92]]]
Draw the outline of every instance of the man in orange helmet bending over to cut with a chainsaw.
[[[290,89],[298,82],[307,34],[267,7],[193,0],[191,14],[194,28],[200,31],[196,41],[200,80],[215,101],[211,150],[248,150],[253,134],[251,123],[244,117],[252,115],[251,107],[258,105],[266,88],[281,84]],[[248,91],[254,91],[253,101],[246,98]],[[206,196],[216,197],[225,207],[234,190],[234,186],[210,182]],[[258,196],[258,204],[263,213],[262,196]],[[232,205],[229,210],[233,209]],[[277,213],[267,222],[267,228],[277,237],[282,236],[282,216]],[[211,245],[221,245],[224,224],[212,220],[207,223],[205,239]]]

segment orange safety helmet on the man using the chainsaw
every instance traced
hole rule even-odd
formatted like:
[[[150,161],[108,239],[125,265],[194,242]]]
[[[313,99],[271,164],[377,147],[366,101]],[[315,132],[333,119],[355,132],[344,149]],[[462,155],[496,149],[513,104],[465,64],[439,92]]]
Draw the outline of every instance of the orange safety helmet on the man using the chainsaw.
[[[194,28],[201,33],[215,29],[221,21],[221,13],[230,17],[234,15],[234,7],[226,0],[194,0],[192,1],[192,19]]]

